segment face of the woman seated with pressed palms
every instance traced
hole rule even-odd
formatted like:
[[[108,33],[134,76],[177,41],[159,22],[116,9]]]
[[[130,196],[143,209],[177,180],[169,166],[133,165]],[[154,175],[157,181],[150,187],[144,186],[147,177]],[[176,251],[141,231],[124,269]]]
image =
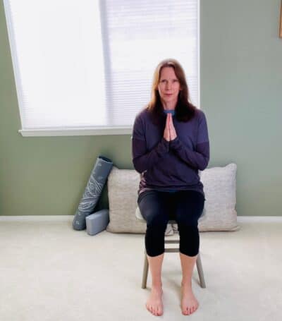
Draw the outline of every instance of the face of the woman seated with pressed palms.
[[[159,95],[164,103],[171,105],[177,103],[178,92],[181,90],[180,83],[172,67],[161,69],[161,76],[158,85]]]

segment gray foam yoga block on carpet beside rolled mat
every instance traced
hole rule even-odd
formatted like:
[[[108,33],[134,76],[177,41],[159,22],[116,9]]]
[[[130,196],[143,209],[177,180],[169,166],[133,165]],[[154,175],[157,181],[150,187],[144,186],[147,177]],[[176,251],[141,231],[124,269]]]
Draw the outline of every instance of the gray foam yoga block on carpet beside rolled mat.
[[[100,210],[86,217],[86,231],[89,235],[98,234],[109,224],[109,210]]]

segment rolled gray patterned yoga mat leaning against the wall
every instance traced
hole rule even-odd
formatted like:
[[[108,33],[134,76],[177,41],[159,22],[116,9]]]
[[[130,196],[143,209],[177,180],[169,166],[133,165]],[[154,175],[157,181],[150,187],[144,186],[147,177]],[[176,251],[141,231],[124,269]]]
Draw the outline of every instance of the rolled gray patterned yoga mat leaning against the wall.
[[[94,211],[94,207],[97,205],[106,183],[106,178],[108,178],[113,165],[113,162],[111,162],[111,159],[109,158],[104,156],[99,156],[97,158],[85,188],[85,192],[83,193],[82,199],[78,205],[78,210],[73,218],[73,229],[77,231],[86,229],[85,218]]]

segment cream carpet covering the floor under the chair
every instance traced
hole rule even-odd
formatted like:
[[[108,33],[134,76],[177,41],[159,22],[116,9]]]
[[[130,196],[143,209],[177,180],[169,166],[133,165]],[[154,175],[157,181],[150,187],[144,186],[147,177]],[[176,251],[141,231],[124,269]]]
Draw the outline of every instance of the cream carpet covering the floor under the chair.
[[[238,217],[240,231],[201,232],[207,284],[200,306],[180,310],[178,253],[163,264],[164,315],[145,308],[144,235],[88,236],[73,216],[0,217],[0,320],[282,320],[282,217]],[[157,319],[156,319],[157,318]]]

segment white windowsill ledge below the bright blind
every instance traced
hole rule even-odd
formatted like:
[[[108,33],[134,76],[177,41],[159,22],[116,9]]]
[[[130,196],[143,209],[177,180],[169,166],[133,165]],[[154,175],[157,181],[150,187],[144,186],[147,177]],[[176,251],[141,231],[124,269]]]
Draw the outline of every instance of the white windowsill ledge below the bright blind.
[[[23,137],[35,136],[92,136],[92,135],[128,135],[132,134],[132,126],[92,127],[92,128],[45,128],[20,129]]]

